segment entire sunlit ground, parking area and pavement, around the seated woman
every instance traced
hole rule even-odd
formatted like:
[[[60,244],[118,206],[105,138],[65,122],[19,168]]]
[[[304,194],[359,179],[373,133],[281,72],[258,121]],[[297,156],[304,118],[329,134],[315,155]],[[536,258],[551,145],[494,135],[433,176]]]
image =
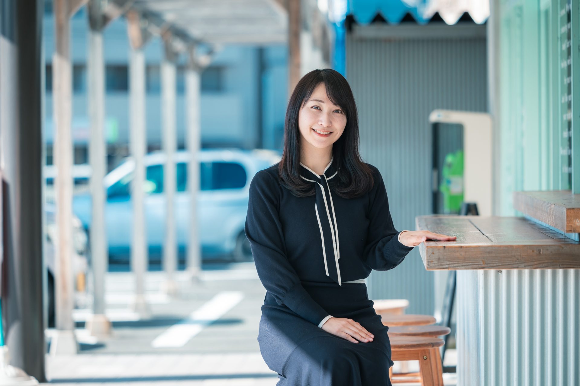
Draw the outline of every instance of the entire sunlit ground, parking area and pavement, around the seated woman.
[[[175,297],[161,292],[164,273],[147,273],[147,319],[131,309],[132,274],[108,273],[106,313],[113,322],[112,336],[103,341],[89,336],[84,320],[90,310],[75,310],[81,350],[78,355],[46,355],[50,384],[276,385],[278,376],[264,363],[256,340],[265,289],[253,263],[209,268],[196,284],[177,272]],[[48,345],[52,334],[47,330]],[[445,385],[456,384],[455,374],[445,374],[444,380]]]

